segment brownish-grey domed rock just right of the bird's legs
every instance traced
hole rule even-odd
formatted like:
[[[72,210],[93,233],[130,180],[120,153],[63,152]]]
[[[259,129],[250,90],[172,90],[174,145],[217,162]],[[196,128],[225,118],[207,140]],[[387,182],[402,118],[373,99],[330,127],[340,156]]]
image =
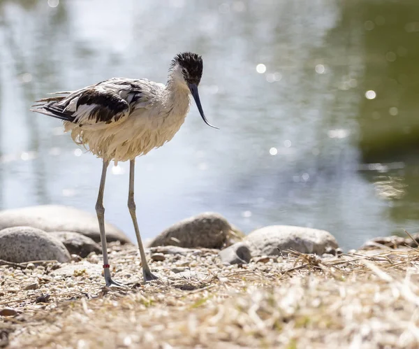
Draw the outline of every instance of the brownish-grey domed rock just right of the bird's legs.
[[[174,245],[183,248],[223,248],[232,227],[218,213],[201,213],[172,225],[149,244],[150,247]]]

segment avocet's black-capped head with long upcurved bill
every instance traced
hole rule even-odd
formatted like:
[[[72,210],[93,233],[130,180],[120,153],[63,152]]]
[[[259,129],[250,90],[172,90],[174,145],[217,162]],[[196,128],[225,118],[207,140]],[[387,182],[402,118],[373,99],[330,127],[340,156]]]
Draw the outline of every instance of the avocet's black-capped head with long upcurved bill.
[[[172,83],[175,83],[179,88],[189,90],[196,102],[196,106],[198,106],[198,111],[205,124],[214,127],[214,129],[218,129],[218,127],[212,126],[212,124],[207,121],[203,107],[200,104],[198,85],[202,76],[203,58],[200,57],[200,55],[192,52],[182,52],[172,59],[172,64],[170,64],[170,79],[172,80]]]

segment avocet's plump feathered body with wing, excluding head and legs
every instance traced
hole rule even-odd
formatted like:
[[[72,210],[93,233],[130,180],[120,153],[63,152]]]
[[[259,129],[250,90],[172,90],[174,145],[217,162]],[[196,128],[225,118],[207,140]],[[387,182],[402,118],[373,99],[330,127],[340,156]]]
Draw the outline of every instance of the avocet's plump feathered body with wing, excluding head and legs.
[[[184,122],[189,94],[146,79],[112,78],[37,103],[33,111],[64,120],[75,143],[118,162],[170,141]]]

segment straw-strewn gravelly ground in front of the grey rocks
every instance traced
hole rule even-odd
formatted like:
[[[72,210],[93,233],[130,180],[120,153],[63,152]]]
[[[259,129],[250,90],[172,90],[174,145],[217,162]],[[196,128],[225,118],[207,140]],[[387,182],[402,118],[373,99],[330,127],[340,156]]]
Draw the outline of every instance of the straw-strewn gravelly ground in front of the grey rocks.
[[[112,251],[115,278],[128,283],[126,289],[102,287],[96,255],[73,263],[67,273],[68,266],[54,262],[22,270],[0,266],[0,309],[7,304],[22,312],[1,318],[4,346],[419,346],[418,250],[321,259],[289,251],[244,266],[223,266],[214,250],[191,250],[152,262],[161,280],[147,285],[136,283],[135,248],[113,244]],[[179,273],[188,268],[190,273]],[[38,288],[24,290],[35,282]],[[48,303],[35,303],[41,294],[50,294]]]

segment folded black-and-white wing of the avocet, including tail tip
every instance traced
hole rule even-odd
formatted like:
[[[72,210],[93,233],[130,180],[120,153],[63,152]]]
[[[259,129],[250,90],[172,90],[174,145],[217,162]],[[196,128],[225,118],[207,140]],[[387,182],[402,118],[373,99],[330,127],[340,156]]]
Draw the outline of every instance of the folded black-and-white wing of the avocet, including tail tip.
[[[140,80],[113,78],[75,92],[56,92],[64,96],[36,101],[34,109],[80,127],[101,128],[124,120],[134,102],[142,97]]]

